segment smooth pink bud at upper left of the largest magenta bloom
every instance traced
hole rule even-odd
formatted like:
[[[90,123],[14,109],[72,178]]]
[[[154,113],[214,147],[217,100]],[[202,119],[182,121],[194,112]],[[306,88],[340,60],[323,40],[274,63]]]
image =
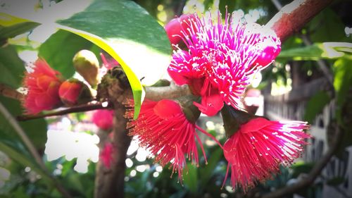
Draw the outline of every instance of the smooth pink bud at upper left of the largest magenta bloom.
[[[194,18],[195,16],[192,14],[184,14],[180,18],[173,18],[165,25],[166,34],[168,34],[172,45],[176,45],[182,40],[182,30],[187,30]]]

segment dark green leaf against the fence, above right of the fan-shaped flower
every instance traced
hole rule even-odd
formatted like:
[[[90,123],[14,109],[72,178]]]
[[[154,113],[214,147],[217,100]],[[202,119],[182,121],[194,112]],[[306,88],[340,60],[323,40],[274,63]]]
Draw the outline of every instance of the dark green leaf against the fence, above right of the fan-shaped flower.
[[[304,113],[304,120],[308,123],[313,123],[315,116],[322,112],[322,109],[329,104],[330,97],[327,92],[320,91],[311,97],[306,106],[306,112]]]

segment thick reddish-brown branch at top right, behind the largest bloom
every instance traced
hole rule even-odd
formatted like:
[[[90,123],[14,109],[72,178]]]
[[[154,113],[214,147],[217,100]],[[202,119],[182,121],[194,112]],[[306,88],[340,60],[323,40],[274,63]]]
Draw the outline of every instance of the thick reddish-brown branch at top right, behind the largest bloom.
[[[267,24],[284,42],[294,32],[298,32],[328,6],[333,0],[295,0],[284,6]],[[276,2],[276,1],[275,1]],[[277,1],[278,2],[278,1]],[[276,5],[276,4],[275,4]]]

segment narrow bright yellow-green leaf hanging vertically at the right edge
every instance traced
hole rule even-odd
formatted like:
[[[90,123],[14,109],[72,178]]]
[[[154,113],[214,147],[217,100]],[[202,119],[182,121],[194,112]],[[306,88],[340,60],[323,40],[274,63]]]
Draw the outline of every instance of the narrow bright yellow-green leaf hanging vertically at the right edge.
[[[341,123],[342,106],[352,85],[352,60],[339,58],[334,63],[334,88],[337,96],[337,120]]]

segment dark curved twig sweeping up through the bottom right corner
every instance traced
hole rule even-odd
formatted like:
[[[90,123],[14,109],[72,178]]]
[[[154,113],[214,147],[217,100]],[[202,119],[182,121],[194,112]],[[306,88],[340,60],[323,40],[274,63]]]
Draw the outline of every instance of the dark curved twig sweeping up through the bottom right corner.
[[[294,192],[297,192],[298,190],[301,190],[304,187],[308,187],[309,185],[311,185],[315,181],[315,178],[317,178],[320,175],[320,172],[322,171],[322,169],[325,168],[325,166],[327,166],[327,163],[329,163],[330,159],[332,158],[332,156],[334,156],[335,152],[337,151],[337,149],[339,149],[339,146],[341,145],[341,140],[342,140],[342,137],[344,136],[344,131],[340,130],[338,126],[336,127],[336,130],[337,130],[337,133],[335,136],[335,140],[332,144],[332,147],[330,147],[329,150],[327,150],[327,152],[325,153],[324,156],[322,156],[320,161],[315,163],[315,166],[313,167],[312,171],[310,171],[310,173],[306,178],[304,178],[303,180],[300,180],[294,185],[283,187],[274,192],[264,194],[262,198],[284,197],[287,194],[292,194]]]

